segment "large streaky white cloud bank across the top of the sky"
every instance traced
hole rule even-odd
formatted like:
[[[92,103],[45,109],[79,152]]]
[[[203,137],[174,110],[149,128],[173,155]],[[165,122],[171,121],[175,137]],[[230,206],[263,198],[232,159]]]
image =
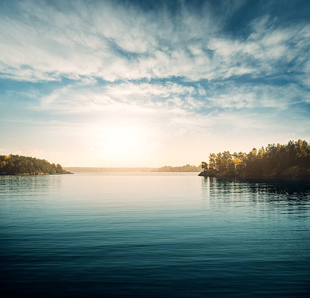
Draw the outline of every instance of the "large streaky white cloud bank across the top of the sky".
[[[2,77],[16,80],[256,76],[278,73],[279,63],[301,59],[309,46],[309,25],[279,27],[268,17],[253,21],[252,33],[241,39],[223,34],[210,13],[186,8],[177,24],[164,12],[109,2],[75,2],[69,10],[21,2],[15,10],[18,17],[0,19],[0,68]]]

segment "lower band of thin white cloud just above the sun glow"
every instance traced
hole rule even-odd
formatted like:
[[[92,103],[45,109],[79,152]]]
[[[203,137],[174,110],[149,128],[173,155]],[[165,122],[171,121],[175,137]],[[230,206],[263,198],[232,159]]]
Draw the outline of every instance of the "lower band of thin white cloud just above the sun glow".
[[[233,80],[184,86],[181,83],[122,82],[89,85],[73,83],[55,89],[40,99],[35,109],[58,113],[208,114],[222,109],[273,108],[285,110],[292,104],[308,102],[308,92],[296,83],[273,86],[237,83]]]

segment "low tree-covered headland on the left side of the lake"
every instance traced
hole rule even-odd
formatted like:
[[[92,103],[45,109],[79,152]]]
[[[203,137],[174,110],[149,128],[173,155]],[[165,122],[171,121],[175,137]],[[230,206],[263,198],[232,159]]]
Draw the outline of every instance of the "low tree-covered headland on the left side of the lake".
[[[2,175],[49,175],[70,174],[61,165],[49,163],[45,159],[20,155],[0,155]]]

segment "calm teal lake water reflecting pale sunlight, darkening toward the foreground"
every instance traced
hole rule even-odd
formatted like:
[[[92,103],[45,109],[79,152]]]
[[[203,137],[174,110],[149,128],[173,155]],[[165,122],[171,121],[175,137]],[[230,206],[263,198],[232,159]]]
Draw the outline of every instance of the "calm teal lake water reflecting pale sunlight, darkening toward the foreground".
[[[309,180],[197,174],[0,177],[2,292],[309,296]]]

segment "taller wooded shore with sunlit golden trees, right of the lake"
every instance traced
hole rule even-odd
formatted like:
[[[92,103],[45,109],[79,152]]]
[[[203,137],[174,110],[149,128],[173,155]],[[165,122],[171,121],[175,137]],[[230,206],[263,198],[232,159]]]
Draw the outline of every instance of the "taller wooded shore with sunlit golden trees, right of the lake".
[[[209,163],[202,162],[202,176],[310,176],[310,145],[289,141],[286,145],[269,144],[249,153],[229,151],[210,153]]]

